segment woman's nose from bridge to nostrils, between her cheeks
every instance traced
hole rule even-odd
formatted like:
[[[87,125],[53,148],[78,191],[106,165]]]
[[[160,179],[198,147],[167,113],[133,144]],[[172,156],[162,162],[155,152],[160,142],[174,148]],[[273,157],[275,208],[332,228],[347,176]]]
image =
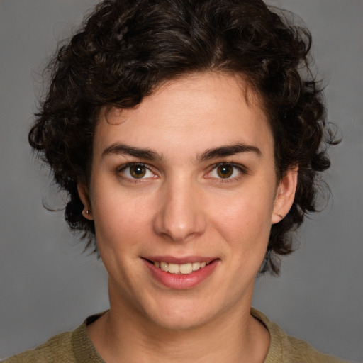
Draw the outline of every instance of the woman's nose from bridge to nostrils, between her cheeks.
[[[155,232],[174,242],[186,242],[206,230],[201,191],[191,180],[169,181],[162,188],[154,220]]]

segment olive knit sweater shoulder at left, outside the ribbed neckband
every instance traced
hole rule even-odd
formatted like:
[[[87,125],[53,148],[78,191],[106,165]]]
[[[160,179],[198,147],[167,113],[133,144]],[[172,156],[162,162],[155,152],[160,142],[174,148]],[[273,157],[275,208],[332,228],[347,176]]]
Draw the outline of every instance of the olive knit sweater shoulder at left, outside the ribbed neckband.
[[[48,363],[76,362],[72,350],[72,332],[62,333],[51,337],[34,350],[16,354],[5,359],[3,363]]]

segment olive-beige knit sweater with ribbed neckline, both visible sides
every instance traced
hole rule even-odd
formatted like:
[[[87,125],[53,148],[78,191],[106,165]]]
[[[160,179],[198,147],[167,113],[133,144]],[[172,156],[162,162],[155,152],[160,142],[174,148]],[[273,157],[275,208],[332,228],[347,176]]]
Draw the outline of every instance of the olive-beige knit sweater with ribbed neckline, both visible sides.
[[[270,322],[256,309],[252,308],[251,313],[264,323],[271,336],[269,352],[264,363],[345,363],[318,352],[303,340],[286,335],[278,325]],[[35,350],[17,354],[5,359],[3,363],[105,363],[86,333],[86,325],[99,316],[100,314],[93,315],[76,330],[55,335]]]

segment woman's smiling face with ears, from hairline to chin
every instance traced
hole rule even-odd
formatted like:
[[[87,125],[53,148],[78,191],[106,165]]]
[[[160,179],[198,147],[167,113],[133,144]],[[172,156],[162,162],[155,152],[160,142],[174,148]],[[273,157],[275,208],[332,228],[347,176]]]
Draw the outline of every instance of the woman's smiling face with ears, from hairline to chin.
[[[137,108],[101,113],[90,186],[79,191],[111,309],[172,329],[249,312],[296,176],[277,182],[267,117],[245,94],[240,78],[194,74]]]

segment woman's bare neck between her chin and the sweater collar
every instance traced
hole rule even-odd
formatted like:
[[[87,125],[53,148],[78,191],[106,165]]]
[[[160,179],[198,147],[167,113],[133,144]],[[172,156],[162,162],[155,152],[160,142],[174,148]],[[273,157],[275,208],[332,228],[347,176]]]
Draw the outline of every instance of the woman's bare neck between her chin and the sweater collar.
[[[267,355],[269,333],[250,315],[249,304],[228,309],[201,326],[172,330],[150,324],[117,302],[111,301],[110,311],[88,328],[106,363],[262,363]]]

